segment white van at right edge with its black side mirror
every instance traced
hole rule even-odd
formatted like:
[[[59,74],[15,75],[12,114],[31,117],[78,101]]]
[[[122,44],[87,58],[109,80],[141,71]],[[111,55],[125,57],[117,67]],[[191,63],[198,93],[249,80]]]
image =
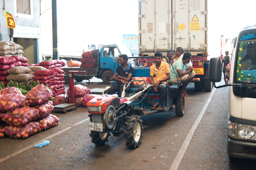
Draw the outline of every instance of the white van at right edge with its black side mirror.
[[[232,48],[230,84],[215,85],[222,78],[219,58],[210,59],[209,80],[215,88],[229,86],[229,159],[256,159],[256,27],[240,31]]]

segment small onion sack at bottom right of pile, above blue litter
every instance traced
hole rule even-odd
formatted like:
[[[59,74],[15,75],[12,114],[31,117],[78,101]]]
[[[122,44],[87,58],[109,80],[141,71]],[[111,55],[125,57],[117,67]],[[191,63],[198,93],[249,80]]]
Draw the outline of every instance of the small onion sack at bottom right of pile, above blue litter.
[[[59,124],[60,119],[55,115],[49,114],[47,117],[37,120],[40,124],[41,130],[47,130]]]

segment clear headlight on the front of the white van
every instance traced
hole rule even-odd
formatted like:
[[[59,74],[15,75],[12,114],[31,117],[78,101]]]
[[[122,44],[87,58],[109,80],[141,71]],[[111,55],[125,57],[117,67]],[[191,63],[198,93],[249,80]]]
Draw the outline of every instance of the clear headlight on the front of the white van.
[[[256,126],[238,124],[238,138],[256,140]]]

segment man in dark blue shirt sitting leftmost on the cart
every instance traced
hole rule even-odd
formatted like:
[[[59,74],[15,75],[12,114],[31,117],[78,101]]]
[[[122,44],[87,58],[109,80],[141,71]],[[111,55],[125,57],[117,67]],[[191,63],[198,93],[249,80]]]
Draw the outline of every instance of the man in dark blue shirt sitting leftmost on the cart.
[[[130,82],[134,74],[134,68],[128,64],[128,56],[126,54],[119,56],[119,64],[120,65],[115,70],[114,76],[111,77],[111,80],[115,80],[116,83],[114,86],[105,90],[104,94],[115,94],[119,91],[118,96],[121,97],[124,85],[128,85]],[[130,86],[128,88],[130,88]]]

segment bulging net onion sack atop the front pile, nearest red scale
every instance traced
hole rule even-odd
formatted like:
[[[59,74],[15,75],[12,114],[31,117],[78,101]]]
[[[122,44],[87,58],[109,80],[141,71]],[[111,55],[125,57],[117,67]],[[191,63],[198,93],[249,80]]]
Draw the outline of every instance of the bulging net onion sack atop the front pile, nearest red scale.
[[[51,90],[43,84],[32,88],[26,95],[30,106],[47,103],[52,99]]]

